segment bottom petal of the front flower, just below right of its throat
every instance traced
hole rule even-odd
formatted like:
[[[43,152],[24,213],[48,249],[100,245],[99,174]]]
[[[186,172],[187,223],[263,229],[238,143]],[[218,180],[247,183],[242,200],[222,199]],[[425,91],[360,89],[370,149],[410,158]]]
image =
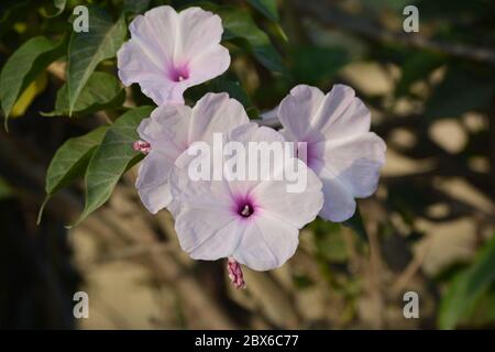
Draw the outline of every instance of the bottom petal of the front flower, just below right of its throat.
[[[268,215],[260,216],[245,228],[233,257],[255,271],[268,271],[287,262],[298,244],[297,228]]]

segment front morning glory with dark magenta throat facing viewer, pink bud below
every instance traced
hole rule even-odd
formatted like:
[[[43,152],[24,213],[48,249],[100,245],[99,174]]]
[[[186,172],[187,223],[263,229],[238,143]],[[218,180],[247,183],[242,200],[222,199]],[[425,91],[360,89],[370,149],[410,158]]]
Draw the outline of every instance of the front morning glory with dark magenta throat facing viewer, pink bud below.
[[[250,160],[250,142],[286,143],[277,131],[255,123],[235,128],[224,140],[244,145],[244,160]],[[304,191],[287,191],[289,182],[285,177],[193,180],[191,157],[188,153],[180,155],[170,187],[174,202],[180,204],[175,229],[182,249],[195,260],[228,257],[229,274],[237,287],[244,285],[237,263],[256,271],[284,264],[297,249],[299,229],[316,218],[323,204],[316,174],[294,153],[284,162],[271,163],[271,175],[282,175],[286,167],[302,170],[307,177]]]

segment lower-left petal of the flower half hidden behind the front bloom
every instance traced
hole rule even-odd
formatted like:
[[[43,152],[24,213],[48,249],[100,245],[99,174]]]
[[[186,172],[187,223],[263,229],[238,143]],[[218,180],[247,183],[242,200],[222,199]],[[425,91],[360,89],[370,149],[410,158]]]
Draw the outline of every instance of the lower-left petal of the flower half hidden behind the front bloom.
[[[169,158],[155,151],[141,163],[135,187],[141,201],[151,213],[158,212],[172,201],[167,179],[173,166]]]

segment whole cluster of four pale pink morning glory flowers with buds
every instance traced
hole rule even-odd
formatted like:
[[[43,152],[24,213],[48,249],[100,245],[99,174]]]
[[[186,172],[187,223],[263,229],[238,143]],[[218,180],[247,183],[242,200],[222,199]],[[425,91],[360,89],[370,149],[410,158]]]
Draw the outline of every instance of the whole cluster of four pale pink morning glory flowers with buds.
[[[207,94],[194,108],[184,103],[188,87],[230,65],[218,15],[158,7],[136,16],[130,31],[118,53],[119,77],[138,82],[158,106],[142,121],[134,144],[146,154],[136,182],[141,200],[152,213],[168,208],[180,246],[193,258],[228,257],[235,287],[244,286],[239,263],[257,271],[280,266],[295,253],[305,224],[317,216],[344,221],[355,211],[355,198],[376,190],[385,143],[370,132],[370,111],[350,87],[337,85],[324,95],[297,86],[276,110],[282,130],[258,127],[227,94]],[[241,146],[304,145],[304,153],[296,147],[288,160],[305,172],[307,187],[289,193],[284,177],[191,179],[188,152],[197,142],[212,143],[216,133]],[[274,163],[268,172],[282,175],[287,165]]]

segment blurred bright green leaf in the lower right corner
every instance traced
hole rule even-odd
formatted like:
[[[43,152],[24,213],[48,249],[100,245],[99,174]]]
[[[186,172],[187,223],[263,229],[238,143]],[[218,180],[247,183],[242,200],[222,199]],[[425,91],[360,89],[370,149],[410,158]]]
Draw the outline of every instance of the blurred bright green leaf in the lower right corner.
[[[453,329],[495,282],[495,233],[473,264],[458,274],[440,302],[440,329]]]

